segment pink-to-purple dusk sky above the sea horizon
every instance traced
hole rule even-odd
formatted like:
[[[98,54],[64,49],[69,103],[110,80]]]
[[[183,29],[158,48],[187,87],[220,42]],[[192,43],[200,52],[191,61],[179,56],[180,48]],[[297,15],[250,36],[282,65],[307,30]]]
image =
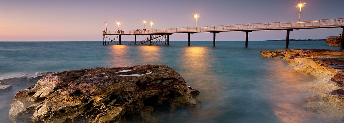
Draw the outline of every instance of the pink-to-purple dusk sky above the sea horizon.
[[[102,41],[102,31],[344,18],[343,0],[0,0],[0,41]],[[151,29],[146,23],[146,29]],[[325,39],[341,28],[290,31],[290,39]],[[216,41],[245,41],[245,32],[216,33]],[[138,36],[144,40],[147,36]],[[252,31],[248,41],[280,40],[286,31]],[[213,33],[194,33],[191,41],[213,41]],[[122,41],[135,41],[123,35]],[[187,41],[187,34],[170,35]]]

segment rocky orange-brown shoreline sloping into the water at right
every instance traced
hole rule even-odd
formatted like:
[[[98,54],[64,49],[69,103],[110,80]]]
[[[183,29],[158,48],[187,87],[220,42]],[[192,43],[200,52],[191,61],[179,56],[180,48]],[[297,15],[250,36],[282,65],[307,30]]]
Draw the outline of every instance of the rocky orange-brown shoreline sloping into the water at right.
[[[283,58],[293,70],[316,77],[305,90],[308,97],[304,111],[327,122],[344,122],[344,51],[327,49],[289,49],[260,51],[262,57]]]

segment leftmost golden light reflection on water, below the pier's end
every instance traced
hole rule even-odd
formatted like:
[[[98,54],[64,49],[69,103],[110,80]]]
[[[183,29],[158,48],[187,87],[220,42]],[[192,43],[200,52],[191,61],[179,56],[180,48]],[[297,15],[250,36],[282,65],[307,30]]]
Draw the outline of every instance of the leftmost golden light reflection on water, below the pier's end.
[[[109,66],[120,67],[132,65],[130,60],[129,47],[126,45],[110,45],[110,55],[111,61]]]

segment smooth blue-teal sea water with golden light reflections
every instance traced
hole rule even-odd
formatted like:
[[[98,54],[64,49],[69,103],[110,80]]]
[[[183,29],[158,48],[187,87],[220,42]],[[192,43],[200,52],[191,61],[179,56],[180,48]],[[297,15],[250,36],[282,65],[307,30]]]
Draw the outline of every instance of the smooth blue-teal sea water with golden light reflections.
[[[127,44],[129,42],[122,42]],[[102,45],[102,42],[0,42],[0,77],[93,67],[167,65],[200,91],[197,113],[161,114],[161,122],[326,122],[303,111],[312,93],[302,88],[312,77],[292,71],[283,59],[262,58],[259,51],[285,49],[285,42],[170,41],[170,45]],[[289,49],[336,49],[326,42],[289,42]],[[0,91],[1,123],[10,122],[9,103],[22,83]]]

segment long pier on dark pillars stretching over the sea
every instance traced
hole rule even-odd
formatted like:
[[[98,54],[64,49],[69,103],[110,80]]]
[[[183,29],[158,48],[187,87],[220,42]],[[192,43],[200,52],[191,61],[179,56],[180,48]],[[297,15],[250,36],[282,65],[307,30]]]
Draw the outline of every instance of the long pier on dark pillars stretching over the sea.
[[[218,25],[218,26],[201,26],[201,27],[182,27],[182,28],[171,28],[171,29],[154,29],[154,30],[141,30],[141,31],[103,31],[103,45],[107,45],[114,42],[121,45],[121,35],[135,35],[135,42],[129,44],[149,44],[162,43],[169,45],[169,35],[174,33],[187,33],[187,44],[190,46],[190,34],[209,32],[213,33],[213,46],[215,46],[216,33],[220,32],[233,32],[243,31],[246,32],[245,47],[248,46],[248,33],[252,31],[262,30],[285,30],[287,31],[286,36],[286,48],[289,47],[289,33],[293,30],[299,29],[319,29],[319,28],[342,28],[342,44],[341,49],[344,48],[344,18],[338,19],[325,19],[325,20],[309,20],[309,21],[289,21],[289,22],[273,22],[273,23],[252,23],[252,24],[234,24],[234,25]],[[109,38],[109,35],[117,35],[115,38]],[[137,42],[136,35],[149,35],[148,39]],[[119,39],[119,43],[115,42]],[[165,39],[164,42],[162,41]],[[110,40],[106,42],[106,39]],[[153,40],[157,40],[153,42]]]

